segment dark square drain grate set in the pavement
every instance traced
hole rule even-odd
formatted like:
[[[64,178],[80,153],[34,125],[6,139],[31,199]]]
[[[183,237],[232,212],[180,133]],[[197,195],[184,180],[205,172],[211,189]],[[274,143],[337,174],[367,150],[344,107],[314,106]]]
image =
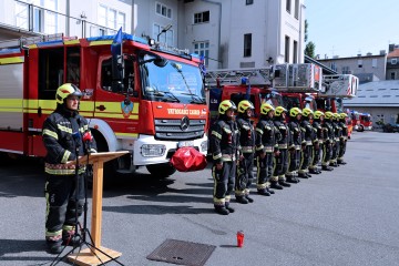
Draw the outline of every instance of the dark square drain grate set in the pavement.
[[[146,258],[178,265],[203,266],[216,246],[166,239]]]

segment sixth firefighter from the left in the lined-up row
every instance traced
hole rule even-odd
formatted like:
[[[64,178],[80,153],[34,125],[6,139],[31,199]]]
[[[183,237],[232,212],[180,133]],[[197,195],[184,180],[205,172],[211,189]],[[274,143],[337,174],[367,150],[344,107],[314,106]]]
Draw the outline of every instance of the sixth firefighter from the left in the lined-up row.
[[[310,124],[310,121],[313,121],[314,112],[305,108],[303,109],[303,115],[300,121],[300,129],[303,131],[303,152],[301,152],[301,158],[300,158],[300,167],[299,167],[299,176],[300,177],[311,177],[309,174],[309,165],[310,165],[310,158],[313,154],[313,144],[315,140],[314,129]]]

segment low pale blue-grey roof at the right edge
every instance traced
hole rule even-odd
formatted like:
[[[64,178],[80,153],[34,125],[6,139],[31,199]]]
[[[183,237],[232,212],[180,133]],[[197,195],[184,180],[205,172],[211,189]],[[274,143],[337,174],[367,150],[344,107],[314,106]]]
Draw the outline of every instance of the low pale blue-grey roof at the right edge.
[[[372,81],[359,85],[357,96],[345,106],[399,108],[399,80]]]

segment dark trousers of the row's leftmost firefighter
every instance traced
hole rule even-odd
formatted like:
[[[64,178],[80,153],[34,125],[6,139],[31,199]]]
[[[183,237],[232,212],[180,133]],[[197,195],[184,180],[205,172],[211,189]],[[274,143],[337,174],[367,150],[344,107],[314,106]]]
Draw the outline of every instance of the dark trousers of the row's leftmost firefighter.
[[[215,207],[225,206],[226,203],[229,203],[234,190],[235,175],[235,161],[223,162],[221,170],[217,170],[215,164],[212,166],[212,177],[215,183],[213,192]]]

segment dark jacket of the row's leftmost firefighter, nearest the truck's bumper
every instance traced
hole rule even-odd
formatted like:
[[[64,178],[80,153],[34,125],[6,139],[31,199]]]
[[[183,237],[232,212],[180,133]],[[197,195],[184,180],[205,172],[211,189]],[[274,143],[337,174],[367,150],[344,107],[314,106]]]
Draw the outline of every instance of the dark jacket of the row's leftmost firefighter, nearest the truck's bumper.
[[[224,115],[221,115],[212,126],[209,139],[215,164],[236,160],[239,146],[239,131],[234,120],[227,120]]]

